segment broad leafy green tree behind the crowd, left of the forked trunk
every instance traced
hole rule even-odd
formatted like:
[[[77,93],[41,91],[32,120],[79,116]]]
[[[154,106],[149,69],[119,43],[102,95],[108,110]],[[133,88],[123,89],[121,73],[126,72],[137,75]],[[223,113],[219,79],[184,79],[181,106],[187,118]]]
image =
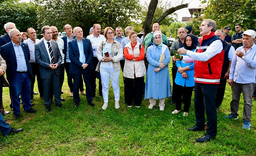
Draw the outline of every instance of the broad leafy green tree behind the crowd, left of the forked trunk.
[[[101,24],[103,28],[124,28],[129,25],[131,18],[137,18],[140,10],[139,0],[34,1],[41,6],[38,9],[38,16],[44,17],[40,18],[41,26],[55,25],[62,30],[63,25],[70,24],[73,27],[80,26],[84,32],[96,23]]]

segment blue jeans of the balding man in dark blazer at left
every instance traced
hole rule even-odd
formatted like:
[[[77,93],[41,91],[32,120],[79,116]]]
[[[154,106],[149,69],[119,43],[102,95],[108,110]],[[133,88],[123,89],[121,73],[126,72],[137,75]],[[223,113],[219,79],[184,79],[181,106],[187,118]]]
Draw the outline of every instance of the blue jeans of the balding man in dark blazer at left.
[[[12,94],[12,105],[13,114],[20,114],[20,91],[22,93],[22,101],[24,110],[29,110],[31,108],[30,103],[30,75],[29,72],[16,73],[14,79],[10,83],[11,94]]]

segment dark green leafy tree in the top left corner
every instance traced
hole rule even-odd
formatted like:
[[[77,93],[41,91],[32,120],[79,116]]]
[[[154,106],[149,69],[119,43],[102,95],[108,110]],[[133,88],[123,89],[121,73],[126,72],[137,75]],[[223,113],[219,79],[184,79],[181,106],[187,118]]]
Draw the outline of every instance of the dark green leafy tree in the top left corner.
[[[37,5],[33,3],[18,3],[18,1],[3,1],[0,4],[0,34],[6,33],[4,24],[15,23],[17,29],[26,32],[30,27],[38,30],[37,26]]]

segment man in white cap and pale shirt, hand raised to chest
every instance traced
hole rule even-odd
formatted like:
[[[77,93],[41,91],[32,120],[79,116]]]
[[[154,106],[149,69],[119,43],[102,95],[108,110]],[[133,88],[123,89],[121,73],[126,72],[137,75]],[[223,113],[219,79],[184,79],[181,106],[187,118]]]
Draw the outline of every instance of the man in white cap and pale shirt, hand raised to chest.
[[[243,46],[236,49],[232,59],[228,84],[232,88],[231,114],[223,118],[238,119],[240,94],[244,97],[243,129],[250,130],[252,116],[252,93],[255,89],[256,76],[256,33],[246,30],[243,33]]]

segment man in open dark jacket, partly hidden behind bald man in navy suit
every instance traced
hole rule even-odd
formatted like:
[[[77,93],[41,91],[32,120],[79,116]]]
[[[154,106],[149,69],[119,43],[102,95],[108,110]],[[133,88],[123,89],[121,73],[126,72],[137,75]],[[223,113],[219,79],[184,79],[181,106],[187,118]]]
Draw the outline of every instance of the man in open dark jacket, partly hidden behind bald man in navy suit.
[[[63,39],[64,41],[64,49],[62,50],[63,54],[64,54],[64,66],[66,69],[66,73],[67,73],[67,84],[69,85],[69,89],[70,89],[70,96],[73,96],[73,80],[72,80],[72,75],[69,73],[69,68],[70,68],[70,59],[69,59],[69,45],[67,44],[69,41],[71,41],[72,39],[75,39],[75,35],[72,34],[72,27],[69,24],[64,25],[64,31],[66,33],[65,36],[61,37],[61,39]],[[85,95],[86,93],[84,92],[83,89],[83,78],[82,75],[80,77],[80,85],[79,85],[79,89],[81,94]]]

